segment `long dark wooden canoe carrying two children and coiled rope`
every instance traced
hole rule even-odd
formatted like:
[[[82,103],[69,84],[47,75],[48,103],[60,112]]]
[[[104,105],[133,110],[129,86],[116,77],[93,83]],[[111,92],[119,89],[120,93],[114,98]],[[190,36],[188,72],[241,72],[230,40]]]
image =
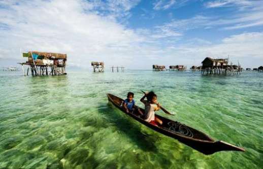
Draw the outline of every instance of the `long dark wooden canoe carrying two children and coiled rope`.
[[[107,96],[109,101],[125,114],[146,125],[147,127],[165,134],[166,136],[177,139],[179,142],[195,150],[198,150],[203,154],[209,155],[218,151],[245,151],[243,148],[234,146],[232,144],[223,141],[215,141],[214,139],[207,136],[207,134],[199,130],[181,124],[177,121],[172,121],[157,114],[155,114],[155,116],[161,119],[163,124],[161,126],[152,125],[151,123],[143,120],[139,116],[138,111],[134,111],[133,113],[126,113],[122,106],[124,100],[120,97],[112,94],[107,94]],[[137,106],[135,106],[135,108],[140,109],[144,113],[144,109],[141,109]]]

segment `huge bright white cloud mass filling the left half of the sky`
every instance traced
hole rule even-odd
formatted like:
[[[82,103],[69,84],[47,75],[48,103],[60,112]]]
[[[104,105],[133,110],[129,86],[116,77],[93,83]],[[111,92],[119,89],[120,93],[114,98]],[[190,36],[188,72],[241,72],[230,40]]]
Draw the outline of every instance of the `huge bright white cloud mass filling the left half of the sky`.
[[[87,6],[94,9],[90,2],[85,8],[86,2],[70,0],[67,3],[61,0],[4,3],[0,23],[8,29],[0,28],[0,51],[8,52],[0,53],[0,58],[19,58],[22,47],[67,53],[69,65],[82,63],[83,67],[89,67],[92,60],[122,64],[134,51],[144,50],[140,46],[142,37],[115,19],[88,11]],[[123,5],[124,11],[131,8],[126,5]]]

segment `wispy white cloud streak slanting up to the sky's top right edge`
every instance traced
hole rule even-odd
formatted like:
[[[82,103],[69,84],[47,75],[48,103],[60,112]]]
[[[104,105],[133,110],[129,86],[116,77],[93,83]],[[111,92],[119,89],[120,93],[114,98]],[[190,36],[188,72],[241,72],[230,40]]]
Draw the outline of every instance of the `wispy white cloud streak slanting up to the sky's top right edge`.
[[[169,23],[159,27],[169,27],[170,29],[183,33],[184,31],[204,28],[204,29],[241,29],[263,25],[263,1],[247,6],[247,9],[237,11],[236,13],[220,16],[196,15],[187,19],[174,19]],[[248,8],[249,7],[249,8]]]

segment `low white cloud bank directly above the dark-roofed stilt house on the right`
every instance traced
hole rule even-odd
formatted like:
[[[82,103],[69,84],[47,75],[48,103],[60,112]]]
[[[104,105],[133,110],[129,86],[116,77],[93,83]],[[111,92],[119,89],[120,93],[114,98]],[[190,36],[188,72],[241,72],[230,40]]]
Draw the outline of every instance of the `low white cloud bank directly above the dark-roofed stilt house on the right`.
[[[170,47],[165,50],[166,53],[163,55],[169,56],[166,58],[168,63],[169,60],[178,60],[182,64],[188,63],[188,66],[191,64],[200,65],[205,57],[227,58],[229,55],[233,63],[238,63],[239,61],[244,67],[257,67],[263,62],[262,42],[263,32],[241,33],[224,38],[218,44],[204,41],[203,44],[196,44],[195,46],[183,44],[177,47]],[[261,63],[253,62],[251,64],[251,60],[259,60]]]

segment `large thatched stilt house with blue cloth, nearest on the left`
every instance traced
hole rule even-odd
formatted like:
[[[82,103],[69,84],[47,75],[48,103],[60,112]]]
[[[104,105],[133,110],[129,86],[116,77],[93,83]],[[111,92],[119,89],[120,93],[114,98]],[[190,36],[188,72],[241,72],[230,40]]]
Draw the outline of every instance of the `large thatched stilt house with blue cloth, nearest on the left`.
[[[67,54],[30,51],[21,53],[21,56],[28,58],[28,61],[19,63],[24,75],[28,76],[29,70],[32,76],[67,75]],[[24,66],[27,66],[26,72]]]

